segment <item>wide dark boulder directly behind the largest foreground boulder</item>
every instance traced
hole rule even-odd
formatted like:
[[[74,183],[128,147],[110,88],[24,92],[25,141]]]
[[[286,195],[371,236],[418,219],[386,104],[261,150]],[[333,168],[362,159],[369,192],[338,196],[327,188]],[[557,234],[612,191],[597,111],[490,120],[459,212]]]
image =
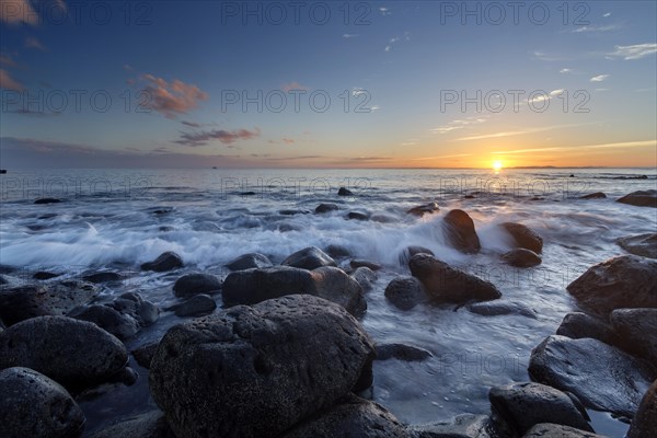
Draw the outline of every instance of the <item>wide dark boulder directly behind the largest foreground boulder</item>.
[[[314,270],[276,266],[231,273],[223,281],[223,303],[255,304],[272,298],[306,293],[336,302],[351,314],[367,309],[362,287],[344,270],[325,266]]]

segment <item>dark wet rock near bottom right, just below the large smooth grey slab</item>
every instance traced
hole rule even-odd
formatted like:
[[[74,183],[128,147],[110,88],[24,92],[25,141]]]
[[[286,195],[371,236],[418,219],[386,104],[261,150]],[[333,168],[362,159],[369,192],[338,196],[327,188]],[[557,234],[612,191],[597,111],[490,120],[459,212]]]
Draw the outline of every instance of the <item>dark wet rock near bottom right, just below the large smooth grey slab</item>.
[[[567,394],[541,383],[512,383],[492,388],[488,399],[493,411],[520,436],[541,423],[593,431],[584,408],[580,410]]]

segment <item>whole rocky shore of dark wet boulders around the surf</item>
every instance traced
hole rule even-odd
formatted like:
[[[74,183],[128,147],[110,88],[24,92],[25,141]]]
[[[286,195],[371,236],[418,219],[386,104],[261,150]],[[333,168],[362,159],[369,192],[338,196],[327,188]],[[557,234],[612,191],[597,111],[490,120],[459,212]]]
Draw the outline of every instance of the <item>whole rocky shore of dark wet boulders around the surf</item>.
[[[353,194],[341,189],[339,196]],[[642,192],[620,201],[654,207],[654,198]],[[322,204],[315,214],[336,209]],[[407,214],[437,211],[430,203]],[[463,256],[482,251],[466,211],[449,211],[439,227]],[[498,254],[502,264],[541,264],[549,242],[522,223],[498,227],[515,242]],[[422,246],[399,254],[405,274],[383,289],[372,287],[385,269],[380,261],[356,260],[337,246],[299,249],[280,264],[246,253],[227,264],[227,276],[180,275],[185,261],[166,252],[141,265],[172,278],[175,304],[162,309],[135,291],[103,296],[101,285],[122,279],[112,269],[64,280],[39,272],[31,284],[16,285],[14,268],[2,266],[0,437],[601,437],[587,410],[630,424],[630,438],[654,437],[655,235],[619,241],[619,254],[630,254],[600,261],[565,288],[580,312],[564,315],[555,334],[535,346],[532,381],[487,388],[487,415],[426,425],[403,424],[369,400],[378,364],[433,354],[410,343],[377,345],[360,322],[368,300],[382,296],[395,312],[465,307],[476,318],[530,319],[537,312]],[[157,327],[163,314],[180,321],[158,342],[128,351],[126,342]],[[148,382],[151,405],[85,428],[81,400],[136,382]]]

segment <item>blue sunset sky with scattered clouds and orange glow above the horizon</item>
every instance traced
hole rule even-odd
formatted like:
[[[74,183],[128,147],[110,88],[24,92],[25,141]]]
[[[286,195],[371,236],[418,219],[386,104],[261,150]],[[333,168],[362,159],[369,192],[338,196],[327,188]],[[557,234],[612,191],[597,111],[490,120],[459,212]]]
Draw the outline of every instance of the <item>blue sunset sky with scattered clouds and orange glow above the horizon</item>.
[[[0,166],[657,166],[655,1],[0,0]]]

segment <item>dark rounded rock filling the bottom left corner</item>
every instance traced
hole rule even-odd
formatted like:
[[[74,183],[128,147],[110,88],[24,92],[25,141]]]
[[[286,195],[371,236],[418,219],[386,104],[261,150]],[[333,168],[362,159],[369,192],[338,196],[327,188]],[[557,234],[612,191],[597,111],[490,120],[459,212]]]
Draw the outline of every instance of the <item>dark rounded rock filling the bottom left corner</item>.
[[[0,371],[0,437],[71,438],[84,414],[59,383],[21,367]]]

